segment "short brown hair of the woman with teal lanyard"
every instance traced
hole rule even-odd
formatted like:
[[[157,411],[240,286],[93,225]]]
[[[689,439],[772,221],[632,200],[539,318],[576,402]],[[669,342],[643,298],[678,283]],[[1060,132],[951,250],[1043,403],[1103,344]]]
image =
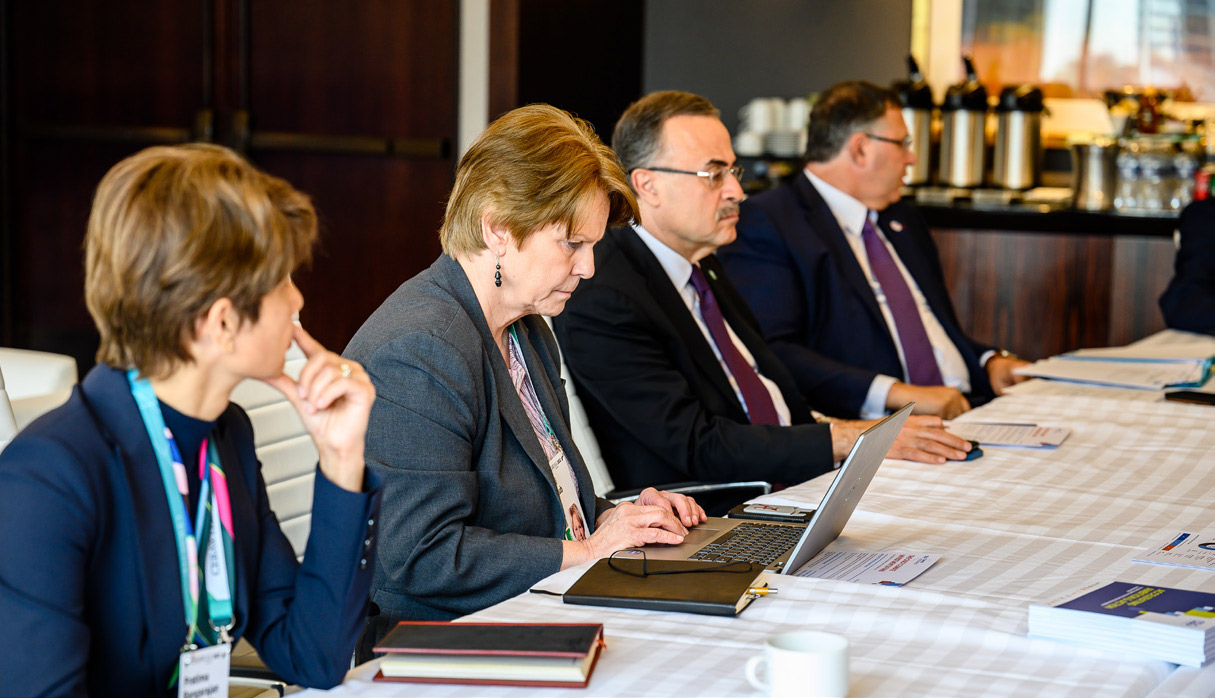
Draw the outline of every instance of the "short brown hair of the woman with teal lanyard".
[[[304,193],[213,145],[158,146],[113,167],[85,235],[97,361],[164,377],[193,356],[194,322],[220,298],[242,321],[316,241]]]

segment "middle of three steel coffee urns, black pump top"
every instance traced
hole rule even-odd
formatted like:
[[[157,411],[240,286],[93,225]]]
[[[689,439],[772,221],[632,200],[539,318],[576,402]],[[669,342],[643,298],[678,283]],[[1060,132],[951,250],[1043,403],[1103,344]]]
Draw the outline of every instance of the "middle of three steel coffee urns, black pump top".
[[[983,185],[987,88],[963,56],[966,81],[950,85],[940,105],[940,184],[956,187]]]

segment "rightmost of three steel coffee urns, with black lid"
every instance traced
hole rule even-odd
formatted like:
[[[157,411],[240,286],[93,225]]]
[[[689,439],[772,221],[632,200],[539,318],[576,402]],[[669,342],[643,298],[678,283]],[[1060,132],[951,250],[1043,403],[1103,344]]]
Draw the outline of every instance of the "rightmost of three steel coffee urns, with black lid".
[[[995,112],[991,184],[1011,190],[1038,186],[1042,171],[1042,91],[1033,85],[1005,88]]]

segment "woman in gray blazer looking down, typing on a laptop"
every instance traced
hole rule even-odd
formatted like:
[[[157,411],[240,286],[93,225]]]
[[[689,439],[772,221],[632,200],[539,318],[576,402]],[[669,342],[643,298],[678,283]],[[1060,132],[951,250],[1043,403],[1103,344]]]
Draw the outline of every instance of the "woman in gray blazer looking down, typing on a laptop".
[[[652,488],[637,505],[595,496],[539,317],[594,274],[609,221],[635,215],[615,154],[547,105],[499,118],[460,159],[443,254],[345,351],[377,389],[367,462],[384,501],[369,638],[401,619],[486,608],[616,550],[679,542],[703,520],[694,500]]]

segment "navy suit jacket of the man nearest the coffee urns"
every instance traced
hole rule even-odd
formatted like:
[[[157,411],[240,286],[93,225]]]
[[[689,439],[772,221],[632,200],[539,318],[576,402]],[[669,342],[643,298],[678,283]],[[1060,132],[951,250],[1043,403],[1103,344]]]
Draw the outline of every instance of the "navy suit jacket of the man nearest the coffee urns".
[[[923,219],[897,203],[877,223],[962,354],[971,404],[987,403],[995,394],[979,356],[993,348],[959,327]],[[860,263],[804,175],[742,202],[738,230],[739,238],[718,257],[808,400],[827,413],[854,417],[878,373],[904,379],[894,338]]]

